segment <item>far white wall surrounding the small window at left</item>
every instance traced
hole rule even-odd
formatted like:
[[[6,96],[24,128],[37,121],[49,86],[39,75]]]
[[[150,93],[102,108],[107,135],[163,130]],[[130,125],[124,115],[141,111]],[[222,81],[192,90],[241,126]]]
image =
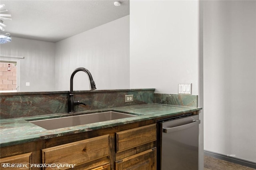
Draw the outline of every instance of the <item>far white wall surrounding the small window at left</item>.
[[[55,43],[12,37],[0,47],[1,55],[24,56],[19,59],[20,91],[54,91]]]

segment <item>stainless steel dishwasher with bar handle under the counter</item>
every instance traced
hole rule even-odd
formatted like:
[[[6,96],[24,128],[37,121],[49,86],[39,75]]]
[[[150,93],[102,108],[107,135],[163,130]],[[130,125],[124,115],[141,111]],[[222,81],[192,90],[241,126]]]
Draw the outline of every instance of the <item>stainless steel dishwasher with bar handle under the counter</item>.
[[[158,121],[158,170],[198,170],[199,115]]]

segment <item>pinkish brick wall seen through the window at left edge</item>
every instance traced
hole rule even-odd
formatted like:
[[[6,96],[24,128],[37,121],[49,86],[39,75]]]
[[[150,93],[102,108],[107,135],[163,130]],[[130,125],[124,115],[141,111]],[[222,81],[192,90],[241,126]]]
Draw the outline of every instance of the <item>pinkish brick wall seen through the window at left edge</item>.
[[[16,90],[17,87],[16,63],[0,63],[0,91]]]

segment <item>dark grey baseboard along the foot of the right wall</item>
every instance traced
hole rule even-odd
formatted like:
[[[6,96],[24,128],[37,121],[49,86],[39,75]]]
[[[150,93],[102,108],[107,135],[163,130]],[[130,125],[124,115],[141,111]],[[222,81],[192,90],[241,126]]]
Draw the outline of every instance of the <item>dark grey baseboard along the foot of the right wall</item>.
[[[224,154],[215,153],[215,152],[211,152],[211,151],[208,151],[208,150],[204,150],[204,155],[212,156],[214,158],[218,158],[218,159],[221,159],[221,160],[226,160],[228,162],[233,162],[235,164],[240,164],[240,165],[243,165],[243,166],[248,166],[250,168],[256,169],[256,163],[248,161],[248,160],[243,160],[243,159],[227,156],[227,155],[224,155]]]

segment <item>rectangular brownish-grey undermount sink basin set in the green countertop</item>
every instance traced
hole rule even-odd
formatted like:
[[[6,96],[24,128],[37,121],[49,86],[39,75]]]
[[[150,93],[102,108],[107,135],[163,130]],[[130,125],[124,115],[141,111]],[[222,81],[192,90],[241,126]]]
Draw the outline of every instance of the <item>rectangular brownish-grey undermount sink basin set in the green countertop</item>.
[[[135,117],[136,115],[130,115],[126,113],[119,113],[114,111],[101,112],[101,113],[90,113],[86,115],[76,115],[69,117],[59,117],[52,119],[44,119],[37,121],[29,121],[37,126],[45,128],[47,130],[57,129],[57,128],[65,128],[65,127],[73,127],[78,125],[86,125],[89,123],[97,123],[104,121],[111,121],[115,119],[123,119],[127,117]]]

